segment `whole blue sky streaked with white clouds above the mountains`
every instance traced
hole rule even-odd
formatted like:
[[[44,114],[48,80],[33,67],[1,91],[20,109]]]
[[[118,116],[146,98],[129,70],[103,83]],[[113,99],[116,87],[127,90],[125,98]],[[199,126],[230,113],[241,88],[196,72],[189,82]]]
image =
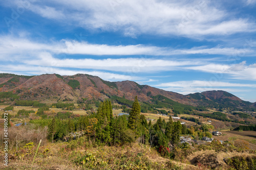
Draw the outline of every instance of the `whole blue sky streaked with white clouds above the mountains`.
[[[0,2],[0,72],[77,73],[256,102],[256,1]]]

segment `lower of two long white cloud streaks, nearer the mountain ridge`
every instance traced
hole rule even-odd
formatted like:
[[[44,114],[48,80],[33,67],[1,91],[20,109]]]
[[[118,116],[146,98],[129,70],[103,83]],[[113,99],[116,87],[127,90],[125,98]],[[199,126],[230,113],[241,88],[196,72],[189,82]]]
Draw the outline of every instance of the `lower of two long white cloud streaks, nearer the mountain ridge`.
[[[201,61],[189,60],[163,60],[150,58],[120,58],[120,59],[57,59],[53,58],[50,53],[40,53],[38,59],[23,61],[30,65],[80,68],[80,69],[100,69],[109,71],[130,72],[154,72],[177,70],[180,66],[198,65]]]

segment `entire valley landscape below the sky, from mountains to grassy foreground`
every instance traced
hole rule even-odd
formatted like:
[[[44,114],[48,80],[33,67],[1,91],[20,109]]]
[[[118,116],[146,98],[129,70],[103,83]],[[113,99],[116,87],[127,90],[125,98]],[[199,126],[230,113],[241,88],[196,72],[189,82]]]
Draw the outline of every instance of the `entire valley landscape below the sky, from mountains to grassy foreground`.
[[[255,106],[225,91],[182,95],[81,74],[2,74],[0,83],[7,169],[28,169],[32,156],[34,169],[232,169],[256,159]]]

